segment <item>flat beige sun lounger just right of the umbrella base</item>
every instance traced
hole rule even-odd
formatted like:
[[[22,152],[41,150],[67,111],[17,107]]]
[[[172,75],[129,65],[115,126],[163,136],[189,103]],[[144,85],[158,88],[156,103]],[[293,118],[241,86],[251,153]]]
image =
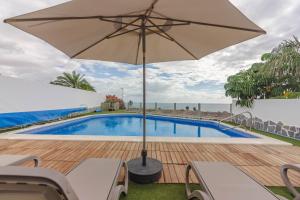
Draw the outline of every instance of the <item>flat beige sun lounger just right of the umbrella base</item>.
[[[201,190],[191,191],[189,172],[193,170]],[[201,200],[283,200],[236,167],[224,162],[193,161],[186,170],[188,199]]]

